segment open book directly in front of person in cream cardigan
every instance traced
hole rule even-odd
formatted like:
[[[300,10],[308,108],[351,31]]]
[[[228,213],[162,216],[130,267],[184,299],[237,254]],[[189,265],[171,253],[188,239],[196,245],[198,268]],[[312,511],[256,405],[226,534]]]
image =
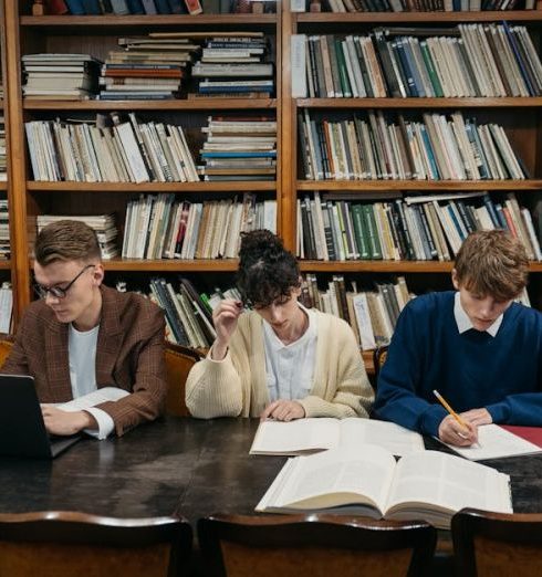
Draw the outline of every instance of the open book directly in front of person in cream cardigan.
[[[393,422],[310,418],[290,422],[262,421],[250,454],[305,454],[361,443],[378,444],[399,457],[425,450],[420,434]]]

